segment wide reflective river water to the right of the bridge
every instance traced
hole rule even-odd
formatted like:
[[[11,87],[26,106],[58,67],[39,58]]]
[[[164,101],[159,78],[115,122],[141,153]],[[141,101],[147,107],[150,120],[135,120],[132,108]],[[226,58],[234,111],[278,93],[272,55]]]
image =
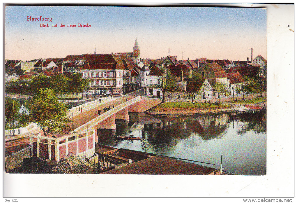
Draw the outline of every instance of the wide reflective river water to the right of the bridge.
[[[141,140],[119,140],[133,135]],[[98,142],[116,148],[213,163],[197,163],[238,175],[266,174],[266,112],[155,118],[129,113],[116,130],[98,129]]]

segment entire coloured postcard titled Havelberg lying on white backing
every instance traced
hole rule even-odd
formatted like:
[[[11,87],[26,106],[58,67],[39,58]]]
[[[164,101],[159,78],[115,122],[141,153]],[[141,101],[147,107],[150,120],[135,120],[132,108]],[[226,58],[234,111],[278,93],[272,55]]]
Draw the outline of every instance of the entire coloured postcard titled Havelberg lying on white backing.
[[[206,5],[5,5],[6,176],[265,176],[267,8]]]

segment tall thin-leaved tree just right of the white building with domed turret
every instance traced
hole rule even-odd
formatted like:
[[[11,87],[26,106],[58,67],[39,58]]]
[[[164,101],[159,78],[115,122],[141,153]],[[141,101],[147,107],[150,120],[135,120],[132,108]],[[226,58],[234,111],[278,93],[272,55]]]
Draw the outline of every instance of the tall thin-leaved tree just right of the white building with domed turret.
[[[156,85],[162,91],[163,102],[165,102],[165,93],[168,91],[174,91],[176,87],[176,78],[170,74],[167,68],[160,68],[161,75],[159,76],[159,85]]]

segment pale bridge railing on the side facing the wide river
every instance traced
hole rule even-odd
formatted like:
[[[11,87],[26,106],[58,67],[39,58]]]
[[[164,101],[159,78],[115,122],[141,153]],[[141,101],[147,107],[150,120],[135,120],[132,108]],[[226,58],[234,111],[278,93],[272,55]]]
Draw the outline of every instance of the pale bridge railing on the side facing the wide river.
[[[134,104],[135,102],[140,101],[140,100],[141,100],[141,96],[138,96],[138,97],[130,99],[129,101],[126,101],[126,102],[124,102],[122,104],[119,104],[116,107],[108,110],[107,112],[97,116],[96,118],[90,120],[89,122],[87,122],[87,123],[81,125],[80,127],[74,129],[74,131],[78,132],[79,130],[93,127],[94,125],[104,121],[106,118],[113,115],[114,113],[117,113],[118,111],[122,110],[123,108],[125,108],[125,107],[127,107],[127,106],[129,106],[131,104]]]

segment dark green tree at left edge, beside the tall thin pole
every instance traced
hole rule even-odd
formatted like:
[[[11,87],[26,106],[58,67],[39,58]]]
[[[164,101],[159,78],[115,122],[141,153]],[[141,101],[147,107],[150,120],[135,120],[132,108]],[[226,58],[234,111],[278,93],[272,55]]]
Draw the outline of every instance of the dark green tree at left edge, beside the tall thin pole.
[[[10,97],[5,97],[5,128],[11,128],[13,121],[18,121],[19,109],[19,102],[13,101]]]

